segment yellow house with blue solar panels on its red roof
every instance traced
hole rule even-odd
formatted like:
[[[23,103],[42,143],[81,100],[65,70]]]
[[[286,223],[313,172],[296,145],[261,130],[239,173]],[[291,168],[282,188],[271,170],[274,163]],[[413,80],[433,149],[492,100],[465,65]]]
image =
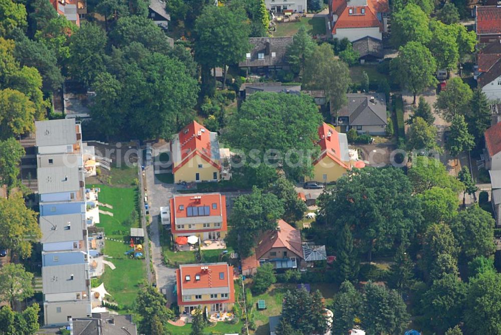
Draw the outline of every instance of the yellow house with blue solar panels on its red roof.
[[[226,197],[219,193],[174,196],[170,199],[170,224],[174,240],[198,236],[202,241],[226,236]]]

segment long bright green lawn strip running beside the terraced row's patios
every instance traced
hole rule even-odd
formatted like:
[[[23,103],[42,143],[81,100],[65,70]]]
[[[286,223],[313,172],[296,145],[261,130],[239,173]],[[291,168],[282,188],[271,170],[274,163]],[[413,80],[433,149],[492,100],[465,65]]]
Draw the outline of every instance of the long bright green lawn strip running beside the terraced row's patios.
[[[113,170],[112,170],[113,171]],[[146,277],[146,265],[144,260],[129,259],[124,254],[130,249],[127,241],[130,226],[125,223],[130,213],[137,206],[137,189],[132,187],[111,187],[107,185],[90,185],[89,187],[99,187],[99,201],[113,206],[113,209],[101,206],[105,211],[113,213],[113,216],[100,214],[98,227],[103,227],[108,238],[117,239],[117,242],[107,239],[105,241],[104,254],[110,258],[106,260],[112,262],[116,269],[112,270],[105,265],[104,274],[98,278],[96,283],[104,282],[106,290],[112,295],[110,300],[117,302],[123,308],[122,312],[133,309],[134,300],[139,291],[138,283]],[[139,219],[134,227],[139,227]]]

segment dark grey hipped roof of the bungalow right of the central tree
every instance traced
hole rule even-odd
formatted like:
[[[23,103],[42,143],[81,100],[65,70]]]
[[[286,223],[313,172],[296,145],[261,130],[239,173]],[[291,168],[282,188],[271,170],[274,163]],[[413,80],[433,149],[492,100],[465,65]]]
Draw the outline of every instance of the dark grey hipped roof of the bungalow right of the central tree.
[[[350,126],[381,126],[386,125],[386,102],[384,96],[378,93],[349,93],[348,104],[341,108],[338,115],[347,116]],[[370,98],[375,98],[375,103]]]

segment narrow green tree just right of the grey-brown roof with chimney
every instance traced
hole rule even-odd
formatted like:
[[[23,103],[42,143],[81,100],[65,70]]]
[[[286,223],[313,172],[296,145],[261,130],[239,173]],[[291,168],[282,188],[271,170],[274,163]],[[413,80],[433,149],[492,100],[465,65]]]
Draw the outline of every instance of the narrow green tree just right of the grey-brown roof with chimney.
[[[306,60],[313,55],[316,48],[317,44],[306,32],[306,27],[302,26],[294,35],[292,43],[287,47],[287,61],[291,64],[292,71],[303,74]]]

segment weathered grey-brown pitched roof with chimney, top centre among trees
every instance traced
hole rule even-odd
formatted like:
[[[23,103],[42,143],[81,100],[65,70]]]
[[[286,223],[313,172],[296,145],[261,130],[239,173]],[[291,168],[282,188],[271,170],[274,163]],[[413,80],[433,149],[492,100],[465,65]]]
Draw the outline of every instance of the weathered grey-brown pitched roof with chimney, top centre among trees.
[[[250,58],[239,62],[239,67],[266,67],[289,65],[286,59],[287,47],[292,43],[293,37],[251,37],[250,44],[253,49],[250,51]],[[259,59],[258,54],[265,54],[263,59]],[[275,57],[272,57],[275,53]]]

